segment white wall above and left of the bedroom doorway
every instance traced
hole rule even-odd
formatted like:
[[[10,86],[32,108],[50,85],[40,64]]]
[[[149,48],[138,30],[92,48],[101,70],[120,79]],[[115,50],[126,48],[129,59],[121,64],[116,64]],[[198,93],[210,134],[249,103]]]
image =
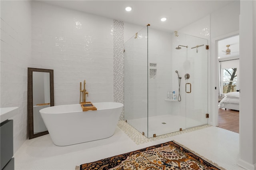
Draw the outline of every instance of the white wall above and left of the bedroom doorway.
[[[218,51],[216,51],[216,40],[224,36],[237,34],[239,30],[240,1],[224,6],[210,15],[210,125],[217,125],[218,119]],[[221,19],[220,19],[221,18]],[[215,90],[215,87],[217,88]]]

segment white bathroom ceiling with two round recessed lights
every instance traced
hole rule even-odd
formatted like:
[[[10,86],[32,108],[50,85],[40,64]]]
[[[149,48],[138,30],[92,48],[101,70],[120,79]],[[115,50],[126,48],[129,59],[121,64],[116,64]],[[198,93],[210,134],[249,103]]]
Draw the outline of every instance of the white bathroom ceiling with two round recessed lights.
[[[139,26],[173,32],[223,8],[234,0],[39,0]],[[126,12],[125,7],[132,11]],[[166,17],[165,22],[160,19]]]

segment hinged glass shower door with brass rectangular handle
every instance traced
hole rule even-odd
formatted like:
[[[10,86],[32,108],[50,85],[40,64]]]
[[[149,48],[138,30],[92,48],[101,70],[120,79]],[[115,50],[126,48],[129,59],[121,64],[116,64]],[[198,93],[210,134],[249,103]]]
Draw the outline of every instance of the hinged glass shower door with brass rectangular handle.
[[[186,35],[186,128],[208,123],[208,40]]]

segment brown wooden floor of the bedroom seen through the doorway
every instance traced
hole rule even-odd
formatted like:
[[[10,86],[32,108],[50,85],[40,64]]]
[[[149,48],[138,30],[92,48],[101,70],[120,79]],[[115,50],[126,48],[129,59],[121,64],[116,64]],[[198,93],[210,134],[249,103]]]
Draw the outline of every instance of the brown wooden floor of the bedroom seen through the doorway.
[[[239,111],[219,109],[219,126],[239,133]]]

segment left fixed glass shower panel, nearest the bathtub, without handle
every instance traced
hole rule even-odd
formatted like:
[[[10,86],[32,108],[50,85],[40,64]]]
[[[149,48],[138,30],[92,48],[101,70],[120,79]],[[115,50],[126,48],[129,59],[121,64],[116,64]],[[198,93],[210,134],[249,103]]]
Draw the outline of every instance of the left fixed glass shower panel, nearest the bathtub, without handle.
[[[124,120],[148,135],[148,32],[140,30],[124,43]]]

